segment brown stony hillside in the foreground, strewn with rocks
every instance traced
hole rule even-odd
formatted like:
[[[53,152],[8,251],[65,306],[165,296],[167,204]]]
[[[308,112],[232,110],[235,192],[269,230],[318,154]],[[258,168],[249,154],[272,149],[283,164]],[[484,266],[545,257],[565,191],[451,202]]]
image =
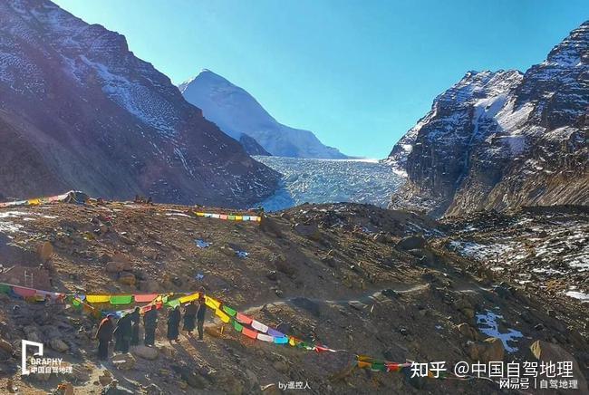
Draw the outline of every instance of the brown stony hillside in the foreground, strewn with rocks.
[[[495,240],[509,232],[519,240],[521,230],[520,241],[540,248],[552,236],[534,241],[524,228],[534,231],[569,214],[436,222],[409,212],[333,204],[294,207],[257,224],[194,217],[189,208],[113,202],[1,209],[0,282],[29,285],[26,270],[26,281],[36,288],[68,293],[204,289],[262,323],[347,352],[252,341],[210,317],[206,342],[181,335],[179,344],[169,344],[160,314],[154,349],[138,347],[101,364],[91,314],[0,294],[0,392],[44,393],[71,382],[75,393],[101,393],[114,379],[129,392],[150,394],[279,393],[279,382],[288,381],[308,382],[310,389],[302,392],[317,394],[498,393],[489,381],[410,380],[400,372],[360,370],[353,353],[449,366],[536,361],[530,351],[536,341],[561,359],[574,358],[589,377],[586,303],[537,277],[522,284],[515,267],[503,265],[513,275],[500,274],[492,270],[495,264],[458,247],[482,243],[477,237],[493,239],[495,226]],[[586,229],[584,214],[570,215]],[[513,225],[525,216],[536,222]],[[196,240],[210,245],[200,248]],[[575,276],[583,280],[584,273],[563,282],[575,278],[582,290],[586,281]],[[22,339],[47,344],[45,355],[72,362],[74,373],[23,378]]]

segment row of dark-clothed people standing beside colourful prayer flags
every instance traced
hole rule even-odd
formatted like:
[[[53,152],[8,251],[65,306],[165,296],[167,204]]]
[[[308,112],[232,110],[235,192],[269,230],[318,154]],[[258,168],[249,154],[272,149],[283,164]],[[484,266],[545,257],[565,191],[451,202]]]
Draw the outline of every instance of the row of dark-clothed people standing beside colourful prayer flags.
[[[203,341],[203,329],[205,324],[205,314],[207,305],[205,297],[201,294],[198,302],[192,301],[184,308],[184,326],[183,330],[192,336],[195,328],[198,330],[198,342]],[[155,344],[156,329],[158,327],[158,310],[150,309],[143,314],[143,327],[145,337],[143,343],[146,346]],[[132,313],[123,315],[115,324],[114,314],[108,314],[98,326],[96,339],[98,339],[98,358],[100,360],[108,359],[109,345],[114,338],[115,352],[129,352],[131,345],[139,345],[140,342],[140,308],[136,307]],[[180,334],[180,322],[182,314],[180,307],[176,306],[168,311],[168,340],[169,342],[178,342]]]

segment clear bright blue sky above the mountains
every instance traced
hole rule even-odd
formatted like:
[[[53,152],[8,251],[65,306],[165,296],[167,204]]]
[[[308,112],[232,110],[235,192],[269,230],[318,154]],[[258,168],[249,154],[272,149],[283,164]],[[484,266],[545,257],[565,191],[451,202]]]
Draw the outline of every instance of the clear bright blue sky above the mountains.
[[[175,83],[207,68],[279,120],[384,158],[469,70],[540,63],[586,0],[54,0]]]

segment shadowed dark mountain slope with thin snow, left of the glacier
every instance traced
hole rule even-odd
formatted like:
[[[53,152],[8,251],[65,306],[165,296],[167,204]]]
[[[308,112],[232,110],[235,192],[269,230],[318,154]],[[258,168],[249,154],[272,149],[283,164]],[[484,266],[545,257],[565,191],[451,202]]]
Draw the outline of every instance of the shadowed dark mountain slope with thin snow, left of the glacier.
[[[48,0],[0,2],[0,152],[0,197],[247,206],[278,179],[121,34]]]

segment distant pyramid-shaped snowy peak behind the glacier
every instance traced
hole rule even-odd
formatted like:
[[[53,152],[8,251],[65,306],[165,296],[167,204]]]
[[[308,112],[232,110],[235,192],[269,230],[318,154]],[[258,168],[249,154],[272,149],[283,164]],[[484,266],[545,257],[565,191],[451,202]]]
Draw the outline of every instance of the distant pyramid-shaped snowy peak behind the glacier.
[[[252,95],[215,72],[203,70],[192,80],[180,84],[179,89],[188,102],[202,109],[205,118],[215,122],[235,140],[241,141],[252,155],[264,153],[258,147],[244,144],[244,135],[256,140],[263,149],[275,156],[347,158],[339,150],[324,146],[313,132],[279,123]]]

